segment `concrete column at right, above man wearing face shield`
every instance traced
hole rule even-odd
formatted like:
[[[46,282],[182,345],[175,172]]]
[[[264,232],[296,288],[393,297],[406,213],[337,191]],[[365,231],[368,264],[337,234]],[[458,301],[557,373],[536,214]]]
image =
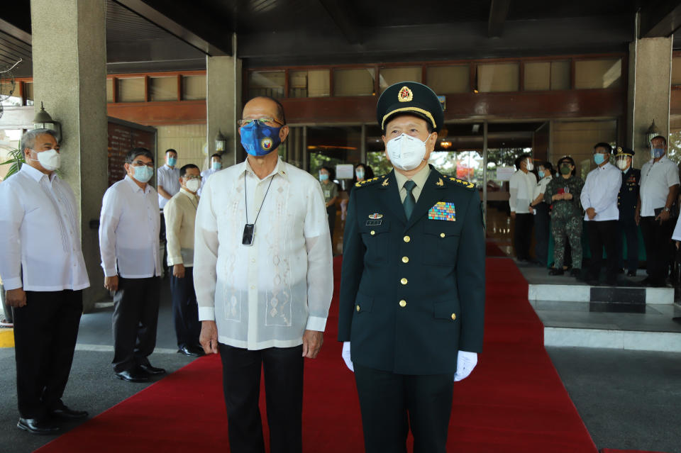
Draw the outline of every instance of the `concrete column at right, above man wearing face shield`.
[[[672,38],[643,38],[629,44],[629,101],[626,142],[636,152],[634,167],[650,159],[646,130],[655,120],[669,134]]]

